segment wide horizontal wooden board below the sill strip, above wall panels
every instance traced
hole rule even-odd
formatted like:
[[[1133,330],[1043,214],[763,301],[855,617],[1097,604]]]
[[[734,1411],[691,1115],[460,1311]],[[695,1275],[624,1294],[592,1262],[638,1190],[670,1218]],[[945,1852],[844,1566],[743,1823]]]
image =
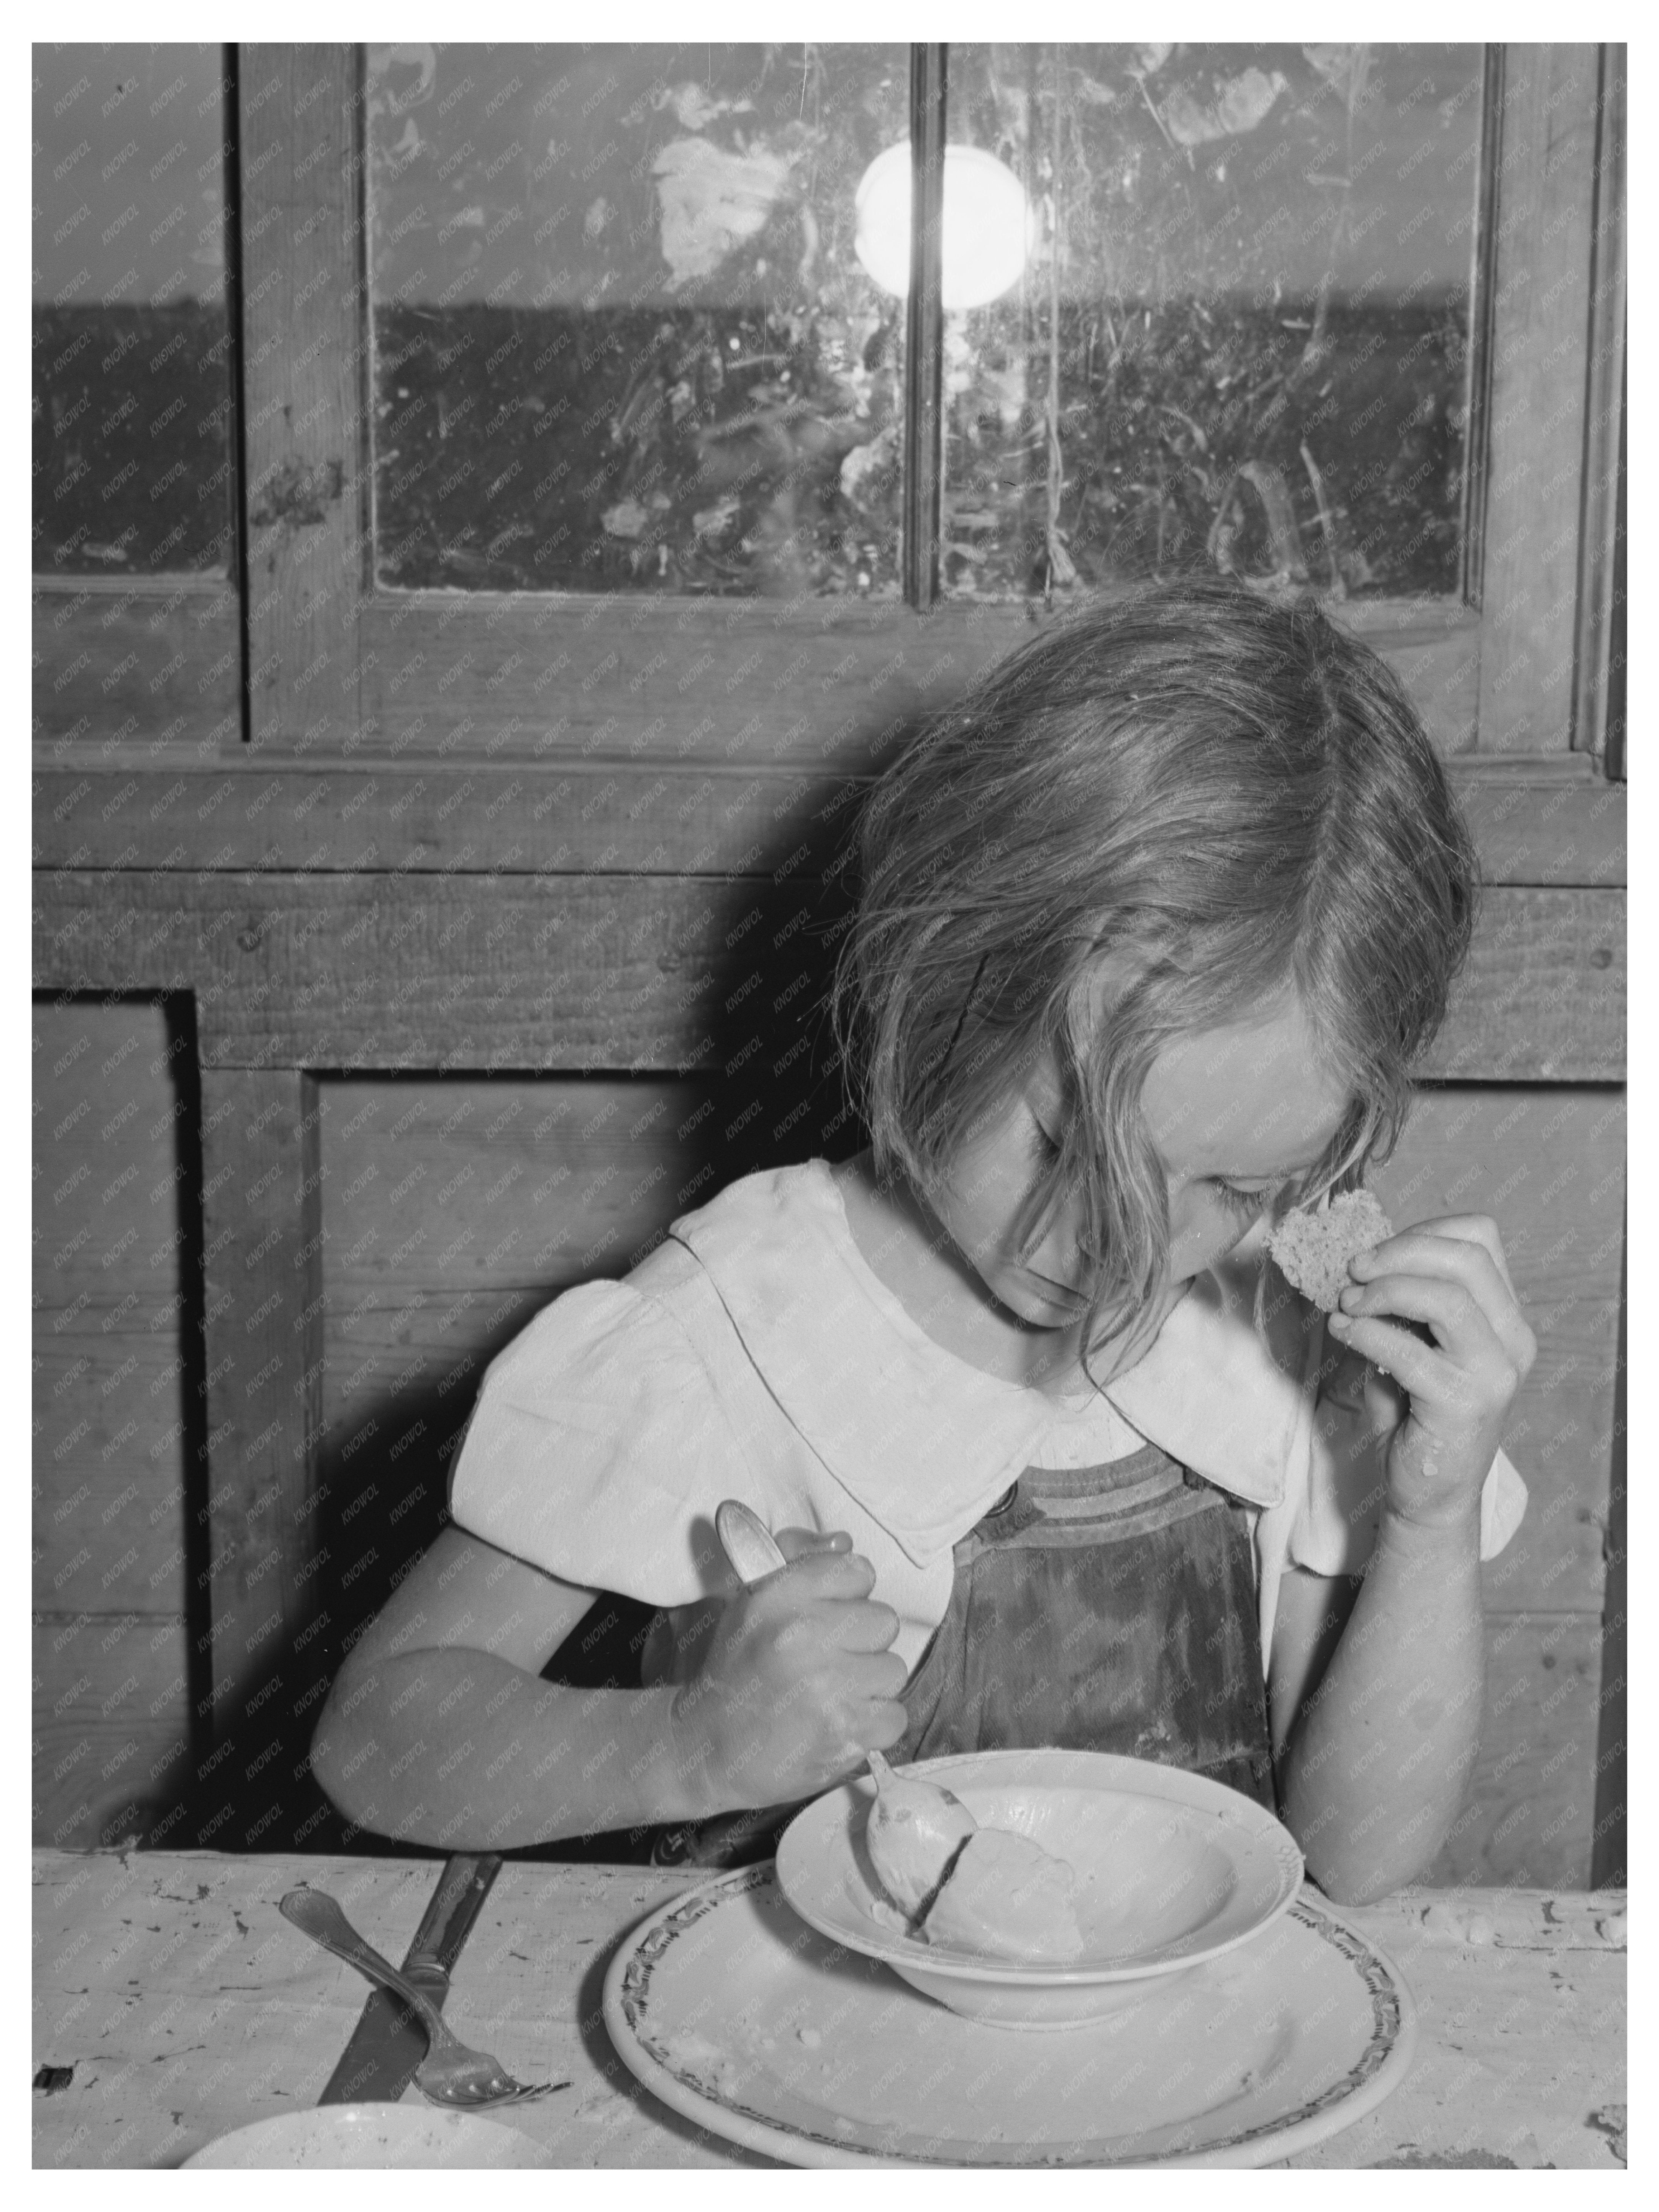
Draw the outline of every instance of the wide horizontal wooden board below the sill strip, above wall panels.
[[[195,991],[204,1068],[703,1068],[787,1042],[843,920],[794,880],[58,869],[35,984]],[[1624,894],[1491,889],[1420,1073],[1619,1082]]]

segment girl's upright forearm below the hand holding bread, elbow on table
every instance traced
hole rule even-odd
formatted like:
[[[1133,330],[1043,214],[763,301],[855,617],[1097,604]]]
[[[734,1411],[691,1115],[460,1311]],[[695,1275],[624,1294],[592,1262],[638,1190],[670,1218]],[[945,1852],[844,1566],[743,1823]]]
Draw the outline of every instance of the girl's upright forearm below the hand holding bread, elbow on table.
[[[1285,1747],[1285,1820],[1338,1905],[1413,1880],[1469,1787],[1486,1683],[1480,1522],[1383,1517],[1325,1679]]]

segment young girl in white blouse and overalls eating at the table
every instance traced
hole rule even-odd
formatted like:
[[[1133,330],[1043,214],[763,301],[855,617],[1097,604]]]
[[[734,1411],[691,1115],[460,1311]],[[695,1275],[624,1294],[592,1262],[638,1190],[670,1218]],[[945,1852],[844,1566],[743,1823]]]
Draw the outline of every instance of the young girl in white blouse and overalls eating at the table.
[[[980,681],[860,836],[869,1150],[739,1179],[509,1345],[319,1778],[453,1849],[717,1860],[872,1747],[1062,1743],[1276,1805],[1338,1900],[1409,1880],[1475,1759],[1535,1343],[1484,1217],[1389,1237],[1329,1321],[1265,1245],[1387,1159],[1469,942],[1411,706],[1312,608],[1141,595]],[[752,1590],[723,1498],[790,1557]],[[641,1686],[540,1681],[606,1590],[661,1608]]]

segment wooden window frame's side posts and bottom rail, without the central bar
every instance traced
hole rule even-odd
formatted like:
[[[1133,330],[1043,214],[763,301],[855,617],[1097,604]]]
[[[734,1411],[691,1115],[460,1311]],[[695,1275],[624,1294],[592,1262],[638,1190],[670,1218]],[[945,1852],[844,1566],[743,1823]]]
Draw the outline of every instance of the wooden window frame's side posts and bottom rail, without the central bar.
[[[914,55],[922,82],[938,49]],[[1040,602],[376,586],[365,51],[248,44],[228,77],[241,608],[226,580],[38,577],[35,737],[58,759],[73,748],[82,763],[95,734],[122,761],[148,741],[456,774],[865,776],[918,712],[1048,619]],[[1471,588],[1338,615],[1396,666],[1449,757],[1584,754],[1588,770],[1617,566],[1624,49],[1491,46],[1484,113]],[[1571,458],[1546,473],[1553,453]],[[142,708],[115,734],[119,666],[115,697]]]

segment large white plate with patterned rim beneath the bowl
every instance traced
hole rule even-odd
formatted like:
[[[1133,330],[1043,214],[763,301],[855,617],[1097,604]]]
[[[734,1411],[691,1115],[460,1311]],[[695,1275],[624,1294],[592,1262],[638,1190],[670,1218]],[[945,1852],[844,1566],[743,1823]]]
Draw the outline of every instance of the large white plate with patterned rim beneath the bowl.
[[[962,2020],[790,1911],[772,1865],[670,1898],[604,1984],[628,2068],[792,2166],[1267,2166],[1352,2126],[1411,2064],[1394,1966],[1298,1898],[1115,2020]]]

